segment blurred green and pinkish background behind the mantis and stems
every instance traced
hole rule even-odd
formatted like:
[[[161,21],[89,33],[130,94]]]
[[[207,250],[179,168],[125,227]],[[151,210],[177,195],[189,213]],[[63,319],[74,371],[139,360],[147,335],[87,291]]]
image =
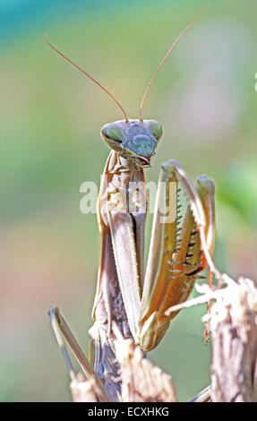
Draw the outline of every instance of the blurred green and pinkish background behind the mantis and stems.
[[[70,400],[47,309],[59,305],[82,347],[99,262],[96,215],[80,211],[80,185],[108,155],[102,125],[116,104],[44,41],[51,40],[116,95],[130,117],[175,37],[202,0],[1,0],[0,400]],[[255,0],[212,2],[151,87],[143,116],[164,125],[148,180],[175,158],[217,192],[215,261],[256,278]],[[150,220],[148,224],[150,228]],[[148,229],[149,236],[150,229]],[[179,400],[210,383],[205,307],[185,310],[149,354],[174,378]]]

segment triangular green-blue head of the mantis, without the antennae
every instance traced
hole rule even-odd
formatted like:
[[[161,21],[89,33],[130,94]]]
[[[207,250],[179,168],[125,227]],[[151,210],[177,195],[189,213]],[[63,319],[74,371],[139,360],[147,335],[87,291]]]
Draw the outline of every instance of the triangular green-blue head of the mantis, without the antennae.
[[[162,135],[162,125],[155,120],[119,120],[104,125],[102,138],[123,158],[142,167],[150,166]]]

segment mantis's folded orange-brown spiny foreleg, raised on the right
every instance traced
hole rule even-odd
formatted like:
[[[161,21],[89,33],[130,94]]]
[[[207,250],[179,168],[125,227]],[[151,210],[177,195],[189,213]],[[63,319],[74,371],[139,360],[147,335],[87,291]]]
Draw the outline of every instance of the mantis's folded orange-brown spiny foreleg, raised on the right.
[[[170,159],[162,165],[159,182],[141,302],[140,340],[145,351],[158,345],[175,317],[176,313],[165,314],[167,308],[190,296],[215,241],[214,185],[210,178],[200,176],[195,188],[178,162]],[[178,185],[188,198],[181,228]],[[165,218],[163,205],[167,209]]]

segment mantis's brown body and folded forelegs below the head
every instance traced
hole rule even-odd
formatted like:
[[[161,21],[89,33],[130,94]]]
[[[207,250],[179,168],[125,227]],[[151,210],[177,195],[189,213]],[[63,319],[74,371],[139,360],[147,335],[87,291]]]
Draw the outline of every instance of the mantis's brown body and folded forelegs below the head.
[[[206,267],[200,228],[204,229],[208,250],[213,253],[212,182],[204,178],[208,188],[203,189],[203,182],[197,193],[192,184],[184,182],[187,176],[184,172],[181,175],[180,170],[179,164],[170,160],[160,173],[159,181],[166,185],[166,193],[164,196],[163,190],[158,190],[157,202],[165,201],[176,217],[171,222],[161,222],[162,215],[156,208],[146,274],[144,237],[148,204],[144,169],[112,151],[102,176],[98,200],[101,257],[93,309],[95,323],[90,329],[91,363],[114,400],[118,400],[120,385],[113,322],[124,338],[132,337],[143,350],[155,348],[176,315],[167,317],[167,309],[188,298],[197,273]],[[200,206],[197,223],[190,204],[182,224],[179,222],[179,182],[189,195],[192,191],[196,195],[194,200],[199,202],[196,208]],[[175,186],[175,200],[174,195],[168,194],[170,183]]]

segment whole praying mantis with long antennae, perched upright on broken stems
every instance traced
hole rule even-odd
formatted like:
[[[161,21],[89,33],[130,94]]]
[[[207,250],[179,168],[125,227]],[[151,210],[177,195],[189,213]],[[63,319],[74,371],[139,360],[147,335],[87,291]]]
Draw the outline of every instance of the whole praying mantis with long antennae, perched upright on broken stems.
[[[208,6],[206,6],[208,7]],[[113,323],[124,338],[132,337],[145,352],[158,346],[169,323],[178,312],[173,305],[183,303],[191,294],[195,279],[206,267],[217,274],[212,262],[215,246],[214,184],[208,176],[199,176],[197,187],[175,159],[161,166],[150,250],[144,269],[145,220],[148,193],[144,170],[158,148],[163,133],[155,120],[142,117],[144,99],[159,69],[178,40],[201,13],[183,30],[152,76],[141,100],[138,119],[128,119],[124,108],[90,74],[74,64],[47,40],[60,56],[85,73],[105,90],[124,114],[124,119],[104,125],[101,136],[111,152],[100,185],[97,204],[101,255],[98,286],[93,307],[95,320],[90,329],[90,363],[79,348],[56,307],[50,315],[56,337],[71,366],[61,332],[73,348],[87,374],[94,376],[101,400],[117,400],[118,364],[114,350]],[[170,194],[170,185],[173,194]],[[188,199],[182,223],[179,222],[179,186]],[[163,218],[173,215],[172,218]],[[70,372],[72,372],[70,368]]]

